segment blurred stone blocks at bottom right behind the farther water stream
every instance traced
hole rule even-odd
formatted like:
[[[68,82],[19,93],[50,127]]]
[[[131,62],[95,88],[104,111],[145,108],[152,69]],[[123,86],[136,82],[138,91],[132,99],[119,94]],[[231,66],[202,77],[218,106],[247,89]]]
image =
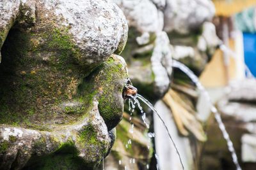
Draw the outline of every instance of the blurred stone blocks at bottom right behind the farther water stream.
[[[253,169],[256,164],[255,85],[255,79],[232,82],[227,94],[217,104],[242,169]],[[203,161],[205,163],[202,164],[204,169],[209,167],[220,169],[227,164],[232,164],[227,144],[219,132],[215,122],[209,124],[207,128],[209,139],[202,155],[205,159]],[[234,169],[234,167],[227,167],[227,169]]]

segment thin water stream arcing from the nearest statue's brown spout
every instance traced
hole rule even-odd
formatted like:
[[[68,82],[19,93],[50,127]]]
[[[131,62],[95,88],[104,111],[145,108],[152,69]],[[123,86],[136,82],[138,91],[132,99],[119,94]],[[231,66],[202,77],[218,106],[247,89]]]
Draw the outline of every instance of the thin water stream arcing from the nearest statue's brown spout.
[[[171,136],[170,132],[168,131],[168,127],[167,127],[166,124],[164,123],[163,118],[159,115],[159,113],[158,113],[157,110],[154,108],[154,106],[153,106],[149,101],[147,101],[147,99],[145,99],[145,98],[144,98],[143,96],[141,96],[140,94],[136,94],[136,96],[133,97],[133,99],[134,99],[135,103],[138,105],[138,108],[140,108],[141,113],[143,113],[142,118],[143,118],[143,122],[144,122],[144,123],[146,122],[146,121],[145,121],[146,115],[145,115],[144,111],[142,110],[142,107],[140,106],[140,102],[138,101],[137,98],[140,99],[141,101],[143,101],[143,103],[147,104],[147,106],[148,106],[154,113],[156,113],[157,117],[159,117],[159,119],[160,119],[161,122],[163,123],[164,128],[166,129],[166,132],[167,132],[167,134],[168,134],[170,140],[172,141],[173,146],[175,147],[175,151],[177,152],[177,155],[179,156],[179,160],[180,160],[180,164],[182,165],[182,169],[184,169],[184,165],[183,165],[183,163],[182,163],[182,160],[181,160],[181,157],[180,157],[180,153],[179,153],[179,151],[178,151],[178,148],[177,148],[177,146],[175,145],[175,142],[173,141],[172,136]],[[147,124],[146,124],[146,125],[147,125]],[[149,127],[149,126],[147,125],[147,127]],[[157,155],[156,155],[156,159],[157,159]],[[158,165],[157,165],[157,169],[158,169]]]

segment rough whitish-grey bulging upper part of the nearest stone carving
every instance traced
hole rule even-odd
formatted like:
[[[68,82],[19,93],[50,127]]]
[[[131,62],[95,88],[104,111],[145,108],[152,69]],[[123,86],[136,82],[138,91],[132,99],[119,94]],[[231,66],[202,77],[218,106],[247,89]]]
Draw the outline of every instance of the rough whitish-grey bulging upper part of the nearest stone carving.
[[[35,21],[45,19],[47,24],[54,25],[58,29],[67,27],[74,47],[81,53],[77,56],[79,64],[95,66],[106,60],[118,49],[118,46],[124,47],[124,39],[127,36],[124,15],[112,1],[102,0],[79,0],[76,3],[66,0],[31,0],[22,1],[22,3],[2,0],[0,9],[3,18],[1,18],[0,35],[3,40],[1,43],[8,33],[8,27],[10,29],[13,22],[19,20],[17,17],[22,15],[22,11],[19,11],[20,4],[22,8],[24,7],[24,14],[28,15],[22,17],[35,17],[33,18]],[[31,16],[35,12],[39,15]]]

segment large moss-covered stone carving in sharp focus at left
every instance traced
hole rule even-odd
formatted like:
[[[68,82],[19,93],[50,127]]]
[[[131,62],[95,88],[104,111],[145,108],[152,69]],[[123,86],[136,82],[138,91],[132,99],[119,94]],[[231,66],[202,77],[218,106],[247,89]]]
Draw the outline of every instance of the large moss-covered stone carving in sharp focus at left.
[[[122,11],[103,0],[0,4],[0,169],[97,166],[124,109],[127,68],[113,54],[127,37]]]

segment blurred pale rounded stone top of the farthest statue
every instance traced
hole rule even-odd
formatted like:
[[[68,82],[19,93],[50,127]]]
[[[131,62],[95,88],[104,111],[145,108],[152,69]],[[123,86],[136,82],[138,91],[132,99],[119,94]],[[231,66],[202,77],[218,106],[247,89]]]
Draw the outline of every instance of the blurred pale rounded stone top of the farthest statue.
[[[164,31],[188,34],[211,20],[214,13],[214,4],[209,0],[166,0]]]

